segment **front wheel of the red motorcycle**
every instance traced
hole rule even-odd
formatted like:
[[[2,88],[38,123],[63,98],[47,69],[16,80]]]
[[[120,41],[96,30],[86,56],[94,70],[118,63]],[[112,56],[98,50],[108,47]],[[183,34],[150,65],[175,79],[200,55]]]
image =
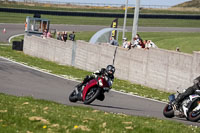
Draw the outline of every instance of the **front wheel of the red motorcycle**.
[[[90,88],[85,96],[84,104],[92,103],[100,95],[100,89],[97,87]]]

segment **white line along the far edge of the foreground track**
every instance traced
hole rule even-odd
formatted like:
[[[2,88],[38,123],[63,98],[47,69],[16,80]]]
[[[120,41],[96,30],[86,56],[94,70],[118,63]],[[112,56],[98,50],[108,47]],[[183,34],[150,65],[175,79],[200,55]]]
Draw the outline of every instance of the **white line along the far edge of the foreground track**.
[[[4,60],[7,60],[7,61],[10,61],[11,63],[15,63],[15,64],[18,64],[18,65],[21,65],[21,66],[24,66],[26,68],[29,68],[29,69],[32,69],[32,70],[36,70],[36,71],[39,71],[39,72],[42,72],[42,73],[45,73],[45,74],[48,74],[48,75],[52,75],[52,76],[55,76],[55,77],[58,77],[58,78],[62,78],[62,79],[66,79],[66,80],[70,80],[70,81],[74,81],[74,82],[79,82],[78,80],[75,80],[75,79],[67,79],[65,77],[62,77],[62,76],[59,76],[59,75],[56,75],[56,74],[52,74],[52,73],[49,73],[49,72],[45,72],[43,70],[40,70],[38,68],[34,68],[34,67],[31,67],[31,66],[27,66],[25,64],[22,64],[22,63],[19,63],[19,62],[16,62],[14,60],[11,60],[11,59],[8,59],[8,58],[5,58],[5,57],[2,57],[0,56],[0,58],[4,59]],[[1,61],[0,61],[1,62]],[[5,63],[7,63],[5,61]],[[142,97],[142,96],[137,96],[137,95],[134,95],[134,94],[129,94],[129,93],[125,93],[125,92],[121,92],[121,91],[116,91],[116,90],[111,90],[113,92],[117,92],[117,93],[120,93],[120,94],[123,94],[123,95],[128,95],[128,96],[133,96],[133,97],[137,97],[137,98],[141,98],[141,99],[146,99],[146,100],[150,100],[150,101],[154,101],[154,102],[159,102],[159,103],[163,103],[163,104],[166,104],[166,102],[162,102],[162,101],[159,101],[159,100],[155,100],[155,99],[151,99],[151,98],[146,98],[146,97]]]

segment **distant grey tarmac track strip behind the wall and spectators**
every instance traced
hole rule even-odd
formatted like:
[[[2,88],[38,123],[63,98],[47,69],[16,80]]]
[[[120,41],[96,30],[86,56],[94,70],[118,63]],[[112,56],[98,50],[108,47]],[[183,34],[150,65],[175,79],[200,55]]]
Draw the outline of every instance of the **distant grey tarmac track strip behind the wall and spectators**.
[[[6,34],[3,29],[6,28]],[[59,31],[98,31],[108,26],[99,25],[66,25],[66,24],[51,24],[50,29]],[[122,28],[122,27],[119,27]],[[128,31],[132,31],[132,27],[127,27]],[[177,27],[139,27],[139,32],[200,32],[200,28],[177,28]],[[0,23],[0,42],[8,42],[9,37],[16,34],[24,33],[24,24],[6,24]]]

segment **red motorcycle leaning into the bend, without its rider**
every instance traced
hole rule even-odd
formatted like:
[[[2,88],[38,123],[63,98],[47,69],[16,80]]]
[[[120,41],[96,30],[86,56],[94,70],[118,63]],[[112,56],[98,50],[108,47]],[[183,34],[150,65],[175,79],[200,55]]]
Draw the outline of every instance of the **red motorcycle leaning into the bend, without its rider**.
[[[103,101],[104,93],[111,88],[111,83],[106,76],[99,76],[98,78],[88,81],[82,86],[82,89],[74,89],[69,96],[71,102],[83,101],[84,104],[90,104],[95,99]]]

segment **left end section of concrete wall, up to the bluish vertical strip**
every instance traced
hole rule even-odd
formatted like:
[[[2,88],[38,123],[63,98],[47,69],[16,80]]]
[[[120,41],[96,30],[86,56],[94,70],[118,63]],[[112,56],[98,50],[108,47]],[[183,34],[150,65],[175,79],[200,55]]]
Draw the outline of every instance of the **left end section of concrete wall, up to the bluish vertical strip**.
[[[36,56],[63,65],[71,65],[72,41],[67,43],[55,39],[42,39],[36,36],[26,36],[23,51],[25,54]]]

